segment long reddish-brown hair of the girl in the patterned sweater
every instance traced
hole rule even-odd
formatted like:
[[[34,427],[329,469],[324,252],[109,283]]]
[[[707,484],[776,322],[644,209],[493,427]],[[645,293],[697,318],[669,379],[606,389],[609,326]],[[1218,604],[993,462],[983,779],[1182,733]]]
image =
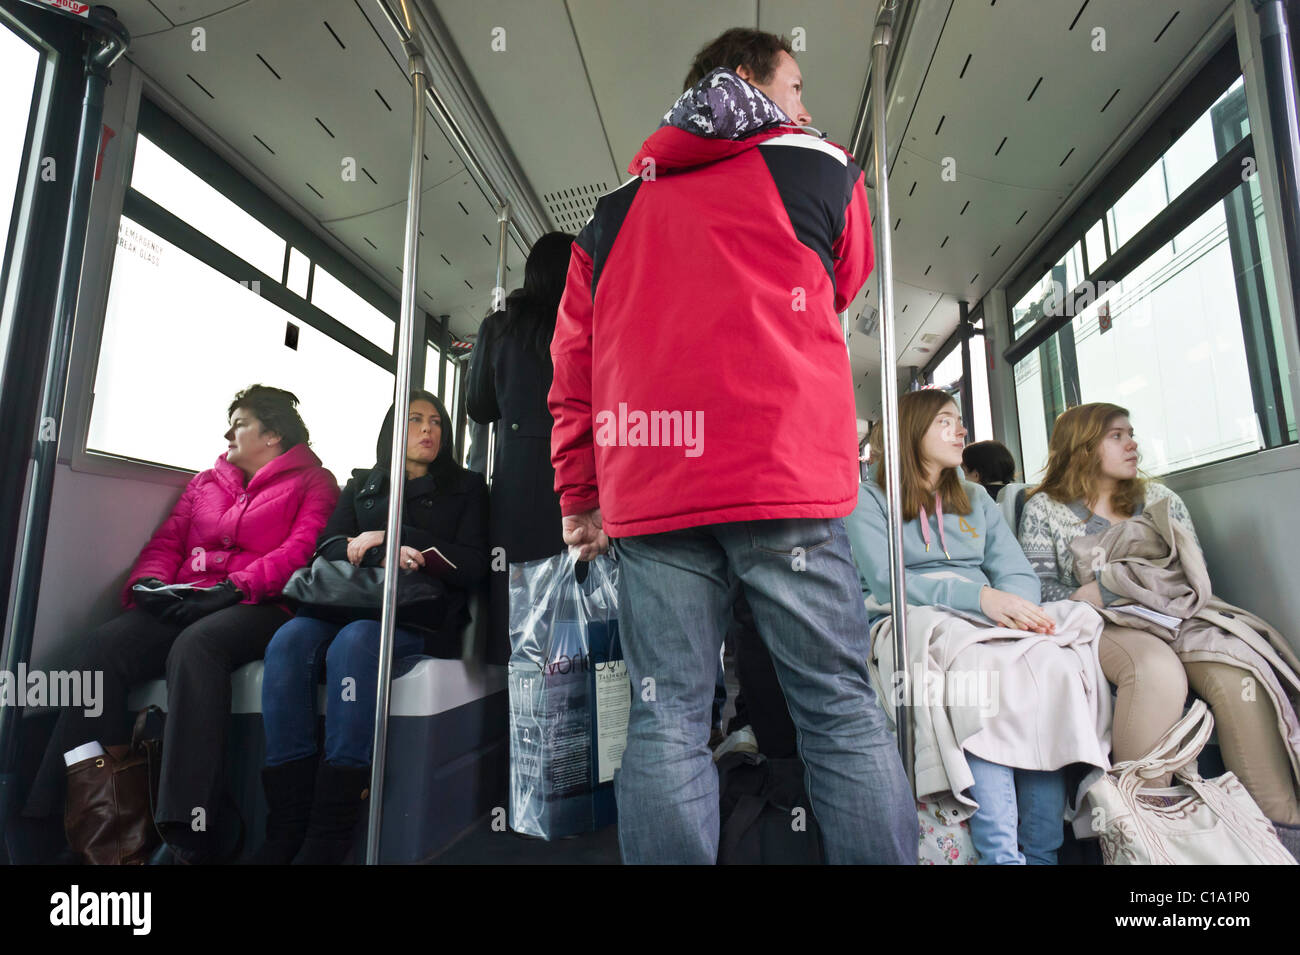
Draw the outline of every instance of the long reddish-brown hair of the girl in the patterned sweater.
[[[1092,507],[1097,503],[1101,482],[1101,455],[1097,448],[1110,430],[1110,422],[1128,417],[1128,409],[1109,401],[1080,404],[1063,412],[1052,429],[1048,444],[1048,473],[1043,483],[1024,495],[1046,494],[1062,504],[1082,500]],[[1141,476],[1115,483],[1110,505],[1124,517],[1132,517],[1138,504],[1145,500],[1147,482]]]

